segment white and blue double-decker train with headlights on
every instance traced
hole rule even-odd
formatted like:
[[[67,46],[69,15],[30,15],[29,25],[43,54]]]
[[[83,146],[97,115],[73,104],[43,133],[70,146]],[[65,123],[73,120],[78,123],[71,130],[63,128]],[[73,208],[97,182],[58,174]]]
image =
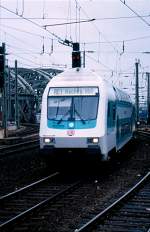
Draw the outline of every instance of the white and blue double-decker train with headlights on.
[[[47,84],[42,98],[40,149],[50,153],[78,148],[108,160],[110,151],[120,150],[134,130],[130,96],[95,72],[73,68]]]

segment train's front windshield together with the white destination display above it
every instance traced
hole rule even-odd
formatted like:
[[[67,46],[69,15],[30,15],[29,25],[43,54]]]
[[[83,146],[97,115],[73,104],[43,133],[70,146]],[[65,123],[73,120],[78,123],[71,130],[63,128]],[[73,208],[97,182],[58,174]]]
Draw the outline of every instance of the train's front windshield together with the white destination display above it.
[[[52,88],[48,96],[48,119],[57,120],[58,123],[66,120],[79,120],[85,123],[86,120],[96,119],[98,88],[79,88],[81,87],[78,87],[78,91],[74,90],[75,88],[61,88],[61,90],[56,88],[56,94],[55,88]],[[65,93],[66,96],[64,96]]]

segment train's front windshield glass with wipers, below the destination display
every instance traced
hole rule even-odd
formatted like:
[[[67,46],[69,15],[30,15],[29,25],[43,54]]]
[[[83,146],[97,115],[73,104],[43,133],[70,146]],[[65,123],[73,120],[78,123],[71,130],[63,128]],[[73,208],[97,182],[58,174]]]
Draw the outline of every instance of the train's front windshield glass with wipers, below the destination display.
[[[48,98],[49,120],[95,120],[99,96],[67,96]]]

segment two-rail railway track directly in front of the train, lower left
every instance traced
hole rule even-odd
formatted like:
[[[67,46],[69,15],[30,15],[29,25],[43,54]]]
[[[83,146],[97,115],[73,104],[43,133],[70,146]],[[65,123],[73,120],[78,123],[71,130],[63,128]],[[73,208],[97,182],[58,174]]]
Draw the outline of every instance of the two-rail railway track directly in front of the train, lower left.
[[[62,195],[73,191],[80,181],[62,181],[56,172],[15,192],[0,197],[0,230],[10,231],[10,227],[20,222],[25,216]]]

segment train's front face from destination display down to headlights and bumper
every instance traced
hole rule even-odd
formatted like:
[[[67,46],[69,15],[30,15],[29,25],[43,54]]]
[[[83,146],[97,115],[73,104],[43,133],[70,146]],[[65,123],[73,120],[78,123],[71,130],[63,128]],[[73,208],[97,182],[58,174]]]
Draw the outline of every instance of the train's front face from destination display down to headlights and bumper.
[[[40,148],[100,150],[97,132],[97,86],[49,87],[40,125]],[[47,105],[46,105],[47,104]]]

